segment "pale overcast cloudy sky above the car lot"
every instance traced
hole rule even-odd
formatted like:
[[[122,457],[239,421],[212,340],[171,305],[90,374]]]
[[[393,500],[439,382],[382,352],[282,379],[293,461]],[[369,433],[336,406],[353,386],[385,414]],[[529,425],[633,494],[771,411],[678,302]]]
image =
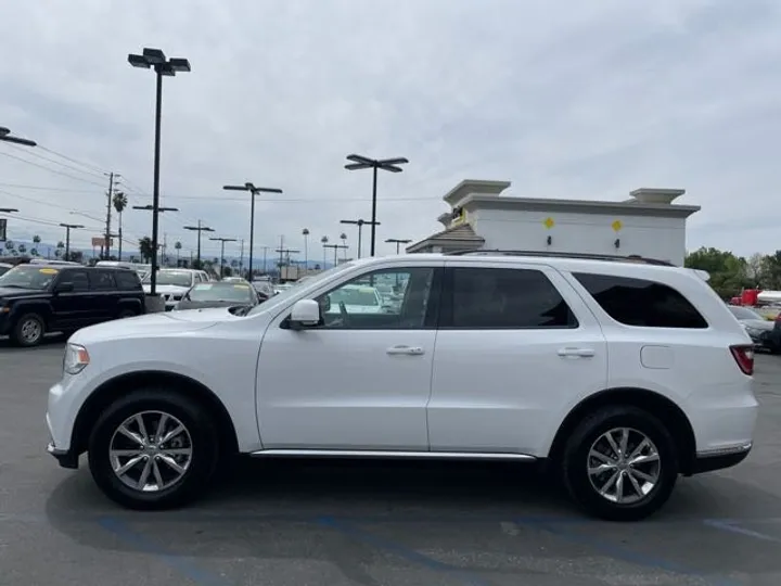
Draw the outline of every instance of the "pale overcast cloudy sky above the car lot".
[[[162,205],[179,212],[161,240],[182,254],[199,219],[246,254],[249,196],[221,187],[252,181],[283,190],[257,199],[256,258],[283,238],[303,259],[304,228],[309,259],[342,232],[354,256],[340,220],[371,218],[371,171],[345,170],[349,153],[410,161],[379,177],[380,254],[439,230],[463,179],[525,198],[683,188],[676,203],[702,206],[688,249],[781,249],[778,0],[0,0],[0,126],[41,146],[0,143],[10,239],[55,243],[75,222],[72,245],[89,247],[108,171],[130,205],[151,203],[154,75],[127,54],[154,47],[192,65],[163,95]],[[123,228],[137,247],[151,215],[129,209]]]

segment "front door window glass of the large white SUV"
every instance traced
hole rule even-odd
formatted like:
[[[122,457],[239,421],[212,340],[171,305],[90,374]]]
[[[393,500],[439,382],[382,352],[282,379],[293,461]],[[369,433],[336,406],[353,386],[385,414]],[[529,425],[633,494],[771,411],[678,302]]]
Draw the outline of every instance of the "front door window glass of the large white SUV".
[[[421,329],[430,321],[435,269],[362,275],[318,297],[328,329]]]

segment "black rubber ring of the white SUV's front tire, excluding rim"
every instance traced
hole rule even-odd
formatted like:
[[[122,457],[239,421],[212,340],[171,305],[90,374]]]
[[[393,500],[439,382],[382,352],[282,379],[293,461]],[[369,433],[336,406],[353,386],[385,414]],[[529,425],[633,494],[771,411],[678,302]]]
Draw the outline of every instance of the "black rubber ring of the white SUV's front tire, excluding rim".
[[[116,429],[141,411],[169,413],[190,432],[193,459],[177,484],[161,492],[142,493],[125,485],[114,473],[108,447]],[[169,509],[183,506],[204,491],[214,474],[219,436],[206,411],[195,402],[166,390],[137,391],[118,399],[99,418],[88,445],[90,472],[98,486],[115,502],[130,509]]]

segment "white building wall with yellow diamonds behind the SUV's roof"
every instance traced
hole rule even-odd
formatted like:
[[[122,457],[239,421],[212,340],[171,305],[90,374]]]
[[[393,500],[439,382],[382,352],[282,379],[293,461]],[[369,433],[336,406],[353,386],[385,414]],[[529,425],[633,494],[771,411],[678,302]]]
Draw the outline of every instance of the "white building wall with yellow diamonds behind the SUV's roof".
[[[553,220],[550,229],[548,218]],[[622,224],[618,231],[611,226],[615,220]],[[683,218],[483,208],[470,212],[469,222],[485,239],[485,249],[639,254],[679,266],[686,256]]]

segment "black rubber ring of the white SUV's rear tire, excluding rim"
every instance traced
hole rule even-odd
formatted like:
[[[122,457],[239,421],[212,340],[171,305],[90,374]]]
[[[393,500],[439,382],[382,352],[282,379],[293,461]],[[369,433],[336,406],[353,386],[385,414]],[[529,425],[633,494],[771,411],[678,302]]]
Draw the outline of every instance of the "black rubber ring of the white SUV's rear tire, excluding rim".
[[[645,434],[660,454],[657,485],[645,498],[630,505],[609,501],[591,485],[588,476],[591,446],[600,435],[615,428],[630,428]],[[571,435],[563,459],[564,482],[571,496],[590,513],[610,521],[639,521],[667,501],[678,479],[678,462],[673,437],[658,419],[635,407],[612,407],[586,419]]]

